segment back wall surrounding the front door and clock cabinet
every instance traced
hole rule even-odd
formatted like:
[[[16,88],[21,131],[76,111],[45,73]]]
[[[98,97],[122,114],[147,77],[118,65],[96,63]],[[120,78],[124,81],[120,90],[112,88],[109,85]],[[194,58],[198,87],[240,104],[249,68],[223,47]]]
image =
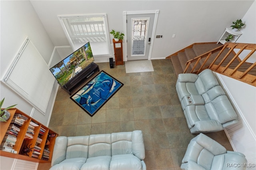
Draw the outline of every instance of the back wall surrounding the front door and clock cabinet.
[[[162,35],[163,38],[154,40],[151,56],[159,59],[195,42],[217,42],[225,28],[237,18],[242,18],[252,2],[244,0],[60,0],[32,1],[32,5],[55,46],[69,45],[57,18],[58,15],[106,13],[109,30],[124,32],[124,11],[160,10],[156,35]],[[172,38],[172,34],[176,34],[176,37]],[[126,43],[123,47],[126,51]],[[108,61],[108,57],[100,57],[100,60]],[[98,61],[97,58],[96,61]]]

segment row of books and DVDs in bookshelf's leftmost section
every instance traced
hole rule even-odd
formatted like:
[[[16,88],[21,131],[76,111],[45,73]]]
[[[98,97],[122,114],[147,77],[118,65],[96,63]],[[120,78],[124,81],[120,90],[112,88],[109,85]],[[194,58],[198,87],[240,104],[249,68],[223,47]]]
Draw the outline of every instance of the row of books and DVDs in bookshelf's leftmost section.
[[[15,151],[13,149],[13,147],[17,141],[18,132],[20,132],[20,126],[22,126],[24,124],[24,122],[27,120],[28,120],[27,117],[25,117],[24,115],[21,115],[19,113],[16,113],[14,115],[9,128],[6,131],[4,139],[0,145],[1,150],[6,151],[6,152],[15,153],[15,154],[17,153],[17,151]]]

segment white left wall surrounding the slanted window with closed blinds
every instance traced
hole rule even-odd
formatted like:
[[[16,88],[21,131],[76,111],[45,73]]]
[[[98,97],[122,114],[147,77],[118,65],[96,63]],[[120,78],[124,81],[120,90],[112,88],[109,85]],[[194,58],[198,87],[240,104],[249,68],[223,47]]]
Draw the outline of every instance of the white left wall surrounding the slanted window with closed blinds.
[[[1,0],[0,3],[0,79],[3,79],[26,36],[28,36],[34,43],[46,63],[49,63],[54,45],[44,29],[44,26],[39,20],[30,1]],[[4,97],[5,102],[3,107],[18,104],[16,106],[18,109],[27,115],[31,114],[33,106],[1,82],[0,99],[3,99]],[[49,115],[47,116],[49,117]],[[6,158],[3,156],[0,157],[0,160],[0,169],[12,169],[13,164],[13,167],[15,167],[15,164],[22,162],[21,160]],[[31,168],[28,165],[32,165],[32,167],[36,167],[37,165],[35,162],[25,162],[27,162],[27,165],[22,163],[24,164],[24,169]]]

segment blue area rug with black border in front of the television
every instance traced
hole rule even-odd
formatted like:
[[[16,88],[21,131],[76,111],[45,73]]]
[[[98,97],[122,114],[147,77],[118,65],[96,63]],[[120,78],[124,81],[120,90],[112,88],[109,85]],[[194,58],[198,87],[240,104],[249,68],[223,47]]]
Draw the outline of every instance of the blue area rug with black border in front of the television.
[[[105,71],[101,71],[70,96],[70,99],[92,117],[123,85]]]

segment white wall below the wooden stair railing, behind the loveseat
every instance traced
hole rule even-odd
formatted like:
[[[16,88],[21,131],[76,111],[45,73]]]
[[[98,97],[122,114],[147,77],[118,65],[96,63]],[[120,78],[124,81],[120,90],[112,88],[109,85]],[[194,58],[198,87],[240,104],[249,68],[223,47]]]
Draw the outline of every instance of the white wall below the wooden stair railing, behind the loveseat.
[[[225,129],[234,151],[246,156],[248,163],[256,161],[256,87],[225,75],[218,75],[238,115],[238,123]],[[238,90],[241,89],[241,90]],[[252,167],[248,168],[251,169]],[[252,169],[255,169],[252,168]]]

